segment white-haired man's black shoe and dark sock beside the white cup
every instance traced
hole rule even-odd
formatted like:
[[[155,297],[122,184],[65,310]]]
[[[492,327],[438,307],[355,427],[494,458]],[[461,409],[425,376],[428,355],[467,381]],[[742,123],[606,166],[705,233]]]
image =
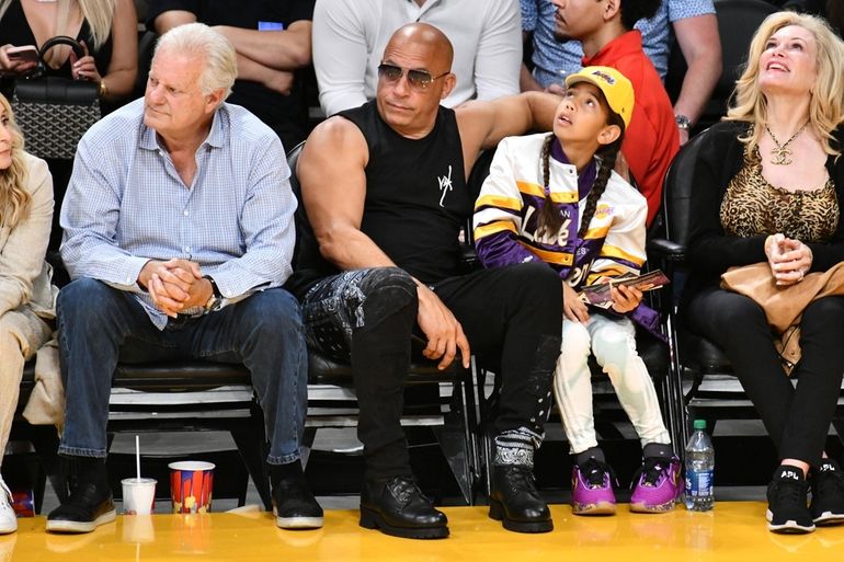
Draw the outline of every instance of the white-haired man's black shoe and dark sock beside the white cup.
[[[71,457],[67,502],[47,516],[50,532],[91,532],[117,517],[105,472],[105,459]]]

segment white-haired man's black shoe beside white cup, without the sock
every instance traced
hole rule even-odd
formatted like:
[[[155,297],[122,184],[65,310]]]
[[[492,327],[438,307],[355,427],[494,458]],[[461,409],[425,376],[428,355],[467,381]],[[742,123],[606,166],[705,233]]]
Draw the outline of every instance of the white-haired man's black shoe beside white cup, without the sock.
[[[81,482],[70,494],[67,503],[53,509],[47,516],[50,532],[91,532],[100,525],[117,517],[112,491],[107,484],[98,486]]]

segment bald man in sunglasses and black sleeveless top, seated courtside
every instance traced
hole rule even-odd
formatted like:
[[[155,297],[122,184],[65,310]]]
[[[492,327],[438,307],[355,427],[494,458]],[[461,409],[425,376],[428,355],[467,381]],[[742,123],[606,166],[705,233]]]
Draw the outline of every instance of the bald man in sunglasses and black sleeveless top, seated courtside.
[[[361,525],[408,538],[448,535],[417,486],[400,426],[414,332],[423,355],[495,366],[501,391],[490,516],[522,532],[552,529],[533,479],[560,349],[561,284],[545,264],[458,274],[466,179],[507,135],[550,129],[559,99],[523,94],[440,105],[455,85],[435,27],[401,27],[385,48],[376,100],[320,124],[298,163],[312,237],[300,240],[293,290],[308,343],[350,362],[360,402],[365,483]],[[459,358],[458,358],[459,357]]]

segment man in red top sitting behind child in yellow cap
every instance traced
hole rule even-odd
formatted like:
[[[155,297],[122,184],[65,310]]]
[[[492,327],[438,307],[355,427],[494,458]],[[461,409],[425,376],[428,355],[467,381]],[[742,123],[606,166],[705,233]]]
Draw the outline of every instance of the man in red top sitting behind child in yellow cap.
[[[642,50],[634,25],[651,18],[660,0],[551,0],[557,35],[583,44],[583,66],[613,67],[634,87],[636,106],[621,154],[632,183],[648,199],[648,225],[662,202],[662,181],[680,149],[680,136],[669,94]],[[620,159],[619,159],[620,160]]]

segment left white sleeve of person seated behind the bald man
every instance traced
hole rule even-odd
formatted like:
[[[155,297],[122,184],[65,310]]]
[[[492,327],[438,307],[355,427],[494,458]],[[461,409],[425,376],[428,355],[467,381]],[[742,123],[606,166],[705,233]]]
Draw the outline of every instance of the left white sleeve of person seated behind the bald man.
[[[353,2],[317,0],[313,7],[313,69],[326,116],[366,102],[366,33]]]

